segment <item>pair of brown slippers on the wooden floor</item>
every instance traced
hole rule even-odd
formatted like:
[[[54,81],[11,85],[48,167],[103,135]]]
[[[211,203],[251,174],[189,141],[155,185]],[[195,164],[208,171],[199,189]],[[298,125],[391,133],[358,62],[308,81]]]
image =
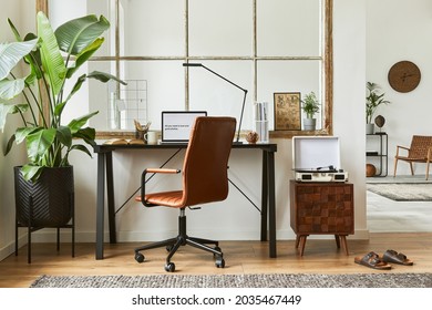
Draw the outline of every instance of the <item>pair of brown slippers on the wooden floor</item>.
[[[395,250],[387,250],[382,257],[380,257],[374,251],[370,251],[363,257],[356,257],[354,262],[379,270],[391,269],[390,264],[398,264],[403,266],[414,265],[414,262],[408,259],[405,255],[397,252]]]

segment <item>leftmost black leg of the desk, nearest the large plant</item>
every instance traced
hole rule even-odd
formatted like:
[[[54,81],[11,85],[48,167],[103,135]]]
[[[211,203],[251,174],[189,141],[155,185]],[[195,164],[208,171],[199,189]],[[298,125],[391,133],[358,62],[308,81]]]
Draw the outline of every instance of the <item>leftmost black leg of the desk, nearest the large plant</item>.
[[[96,259],[103,259],[103,221],[105,208],[105,153],[97,153]]]

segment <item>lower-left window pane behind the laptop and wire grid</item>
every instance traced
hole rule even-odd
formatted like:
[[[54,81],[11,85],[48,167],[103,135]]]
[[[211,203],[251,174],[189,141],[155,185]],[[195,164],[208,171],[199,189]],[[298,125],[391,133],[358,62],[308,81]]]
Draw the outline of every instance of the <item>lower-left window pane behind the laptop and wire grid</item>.
[[[109,72],[111,65],[112,63],[110,64],[110,62],[92,62],[91,71],[101,70]],[[114,95],[117,94],[115,84],[91,81],[91,111],[100,111],[92,118],[91,125],[99,130],[133,130],[133,118],[136,116],[136,118],[141,117],[138,120],[141,123],[151,122],[151,130],[161,130],[162,111],[184,111],[185,108],[183,70],[182,62],[178,61],[122,62],[122,80],[132,81],[128,97],[126,100],[121,97],[121,101],[114,104],[112,96],[113,93]],[[146,91],[143,90],[143,83],[138,81],[145,81]],[[133,83],[137,84],[137,90],[133,89]],[[134,90],[137,92],[133,92]],[[145,107],[140,107],[140,111],[136,111],[135,107],[135,103],[144,105],[144,100],[146,100],[147,106],[146,120],[144,118],[144,111],[142,111]],[[113,110],[113,105],[116,110]],[[120,118],[123,120],[116,123],[116,127],[111,122],[113,112],[121,112]],[[127,120],[127,123],[124,120]]]

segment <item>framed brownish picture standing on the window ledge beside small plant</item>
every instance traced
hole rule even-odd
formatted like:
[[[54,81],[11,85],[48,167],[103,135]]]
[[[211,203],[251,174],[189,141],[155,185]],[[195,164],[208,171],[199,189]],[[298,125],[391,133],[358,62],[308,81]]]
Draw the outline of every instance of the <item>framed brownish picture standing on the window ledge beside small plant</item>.
[[[301,93],[274,93],[275,131],[301,131]]]

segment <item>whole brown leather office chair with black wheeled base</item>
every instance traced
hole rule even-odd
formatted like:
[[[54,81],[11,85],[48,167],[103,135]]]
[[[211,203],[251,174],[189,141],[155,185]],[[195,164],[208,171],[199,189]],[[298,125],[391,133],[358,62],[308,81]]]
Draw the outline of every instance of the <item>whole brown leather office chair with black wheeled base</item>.
[[[189,237],[186,234],[186,207],[225,200],[228,196],[228,158],[236,130],[236,120],[233,117],[197,117],[191,132],[183,163],[183,188],[179,190],[148,194],[145,192],[147,174],[178,174],[179,169],[152,168],[142,173],[141,196],[136,200],[146,207],[165,206],[178,208],[178,236],[144,245],[135,249],[135,260],[144,261],[142,250],[166,247],[169,251],[166,258],[165,270],[173,272],[173,255],[181,246],[191,245],[198,249],[213,252],[216,267],[224,268],[225,260],[218,247],[218,241]],[[208,245],[215,245],[209,247]]]

